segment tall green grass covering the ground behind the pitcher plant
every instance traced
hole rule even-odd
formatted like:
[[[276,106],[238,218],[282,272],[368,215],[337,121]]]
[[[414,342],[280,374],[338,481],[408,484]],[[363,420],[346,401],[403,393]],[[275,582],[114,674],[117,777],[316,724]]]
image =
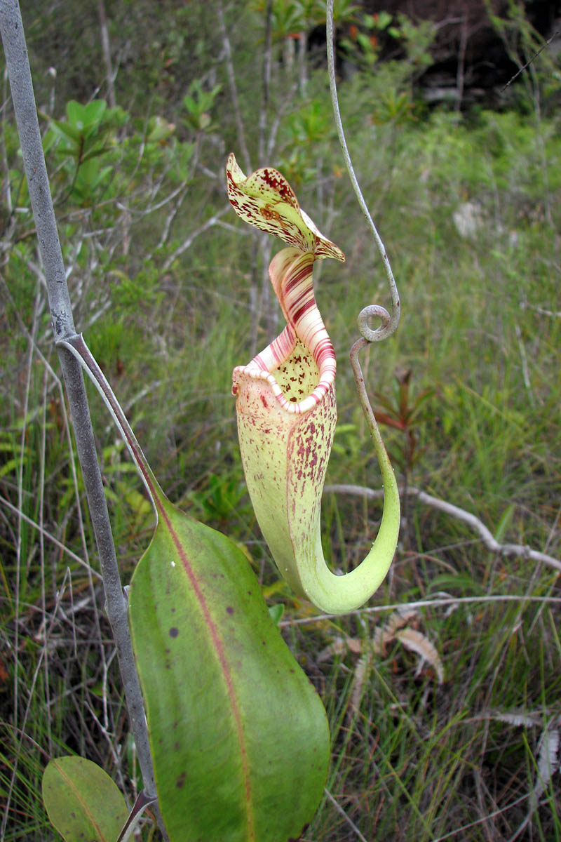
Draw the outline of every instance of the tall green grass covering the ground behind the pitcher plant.
[[[243,72],[251,56],[240,31],[232,37]],[[273,93],[280,98],[287,79],[282,65],[277,72]],[[342,84],[341,105],[403,313],[394,337],[363,354],[369,390],[394,401],[394,375],[407,369],[411,401],[431,390],[415,418],[410,484],[468,509],[500,541],[559,558],[558,117],[537,122],[532,114],[482,112],[462,119],[436,112],[407,125],[374,125],[369,115],[376,83],[369,81],[370,87],[356,78]],[[242,85],[245,111],[257,96],[256,84]],[[320,73],[312,74],[309,92],[309,100],[326,102]],[[165,92],[159,89],[155,102],[165,103]],[[169,101],[166,109],[171,119],[177,103]],[[225,150],[235,148],[227,101],[219,102],[213,119]],[[127,129],[128,136],[140,123]],[[303,151],[290,125],[287,117],[269,163],[287,163],[302,205],[347,254],[344,266],[322,264],[317,285],[339,359],[341,428],[327,481],[378,488],[346,358],[357,336],[357,313],[387,299],[384,274],[341,176],[333,136]],[[5,131],[15,168],[15,140]],[[124,154],[125,173],[137,148],[131,144]],[[267,600],[285,605],[283,634],[330,718],[327,787],[340,807],[326,796],[304,840],[351,842],[358,833],[368,842],[512,839],[532,803],[543,730],[553,722],[561,727],[555,719],[561,713],[558,573],[524,557],[490,553],[468,526],[409,498],[392,571],[363,610],[318,618],[278,583],[243,491],[230,375],[267,344],[282,320],[262,295],[267,284],[259,248],[233,214],[224,221],[239,236],[231,227],[211,227],[163,271],[167,256],[201,218],[220,210],[225,197],[222,184],[219,189],[191,173],[188,201],[169,241],[154,251],[168,208],[146,219],[141,214],[162,172],[157,149],[153,154],[156,163],[140,169],[125,197],[132,211],[127,253],[119,248],[119,225],[129,224],[128,217],[119,216],[111,196],[107,207],[99,197],[92,216],[74,209],[70,219],[72,209],[59,210],[67,260],[82,242],[69,279],[77,323],[86,326],[88,344],[170,498],[240,541]],[[221,172],[225,156],[215,144],[203,141],[201,155],[205,166]],[[167,178],[169,192],[175,176]],[[60,179],[59,173],[59,196],[65,189]],[[478,204],[483,219],[471,239],[460,237],[453,223],[454,210],[466,201]],[[40,798],[49,756],[77,752],[98,762],[129,802],[140,786],[29,221],[19,226],[22,236],[14,236],[3,267],[0,336],[0,800],[9,801],[6,842],[58,838]],[[105,234],[92,235],[104,226]],[[88,394],[126,584],[150,541],[151,512],[89,386]],[[403,434],[387,427],[382,432],[400,464]],[[362,498],[325,497],[325,557],[335,568],[361,561],[380,514],[378,503]],[[473,601],[449,601],[467,597]],[[494,601],[500,597],[509,599]],[[393,610],[385,605],[424,599],[448,600],[418,610],[410,621],[437,648],[442,684],[430,663],[419,669],[419,656],[400,642],[381,654],[370,645],[376,624]],[[319,661],[339,637],[360,639],[361,653]],[[496,718],[514,712],[532,714],[536,724]],[[558,773],[517,838],[561,839]]]

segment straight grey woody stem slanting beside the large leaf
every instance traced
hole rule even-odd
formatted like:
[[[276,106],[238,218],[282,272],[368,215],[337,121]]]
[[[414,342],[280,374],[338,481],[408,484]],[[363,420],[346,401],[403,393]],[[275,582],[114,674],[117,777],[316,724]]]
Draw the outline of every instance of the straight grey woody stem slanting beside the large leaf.
[[[59,343],[74,336],[76,329],[74,328],[70,295],[66,285],[61,243],[56,229],[55,211],[50,196],[49,179],[41,144],[37,107],[25,45],[24,25],[18,0],[0,0],[0,30],[2,31],[25,175],[29,185],[29,197],[45,271],[51,323],[55,341]],[[146,729],[146,716],[130,643],[127,603],[119,577],[119,567],[115,555],[107,503],[103,493],[103,482],[99,470],[82,370],[79,362],[68,350],[59,346],[58,354],[66,384],[87,503],[98,546],[106,610],[117,647],[130,727],[135,736],[136,751],[146,794],[153,797],[156,794],[156,786]]]

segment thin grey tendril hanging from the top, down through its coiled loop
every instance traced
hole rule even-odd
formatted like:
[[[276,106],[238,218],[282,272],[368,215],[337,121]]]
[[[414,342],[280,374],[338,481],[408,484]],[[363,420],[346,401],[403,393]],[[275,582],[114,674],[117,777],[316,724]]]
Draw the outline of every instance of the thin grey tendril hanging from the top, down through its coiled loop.
[[[380,342],[382,339],[386,339],[391,336],[391,334],[394,333],[395,328],[397,328],[400,323],[400,294],[398,292],[397,285],[395,284],[391,266],[389,265],[389,259],[384,248],[384,243],[380,239],[376,226],[373,223],[372,216],[370,216],[368,205],[364,201],[363,193],[358,185],[357,176],[355,175],[352,167],[351,156],[349,155],[347,148],[345,132],[343,131],[341,112],[339,110],[339,99],[337,97],[335,57],[333,52],[333,0],[327,0],[327,69],[329,72],[329,87],[331,90],[333,115],[335,116],[337,134],[339,135],[341,150],[343,152],[343,157],[345,158],[345,163],[347,164],[347,171],[349,173],[349,178],[351,179],[352,189],[355,191],[358,204],[360,205],[366,221],[368,222],[368,226],[373,233],[374,242],[376,242],[378,252],[380,253],[384,264],[386,278],[388,279],[389,296],[391,298],[391,316],[386,308],[379,304],[364,307],[358,316],[358,329],[363,338],[365,338],[368,342]],[[370,328],[368,324],[368,320],[372,317],[378,317],[382,322],[375,330]]]

